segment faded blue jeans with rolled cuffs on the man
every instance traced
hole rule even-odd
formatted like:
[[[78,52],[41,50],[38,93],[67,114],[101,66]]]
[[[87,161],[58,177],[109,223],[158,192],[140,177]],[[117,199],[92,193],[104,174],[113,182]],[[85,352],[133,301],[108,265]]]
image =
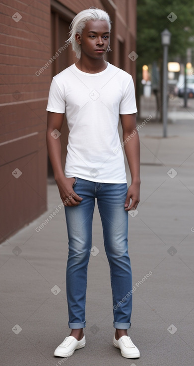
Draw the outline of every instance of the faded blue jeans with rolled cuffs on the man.
[[[104,245],[110,265],[113,294],[113,326],[130,328],[132,279],[128,254],[128,211],[124,204],[127,183],[96,183],[75,178],[74,191],[82,197],[77,206],[65,206],[68,233],[66,296],[68,326],[84,328],[87,267],[92,246],[92,219],[97,198]]]

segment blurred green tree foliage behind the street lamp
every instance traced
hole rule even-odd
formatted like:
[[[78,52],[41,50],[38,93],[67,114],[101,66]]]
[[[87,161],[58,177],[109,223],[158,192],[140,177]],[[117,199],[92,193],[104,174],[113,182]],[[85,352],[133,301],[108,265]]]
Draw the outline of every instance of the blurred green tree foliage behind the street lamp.
[[[174,12],[177,19],[167,16]],[[194,1],[137,0],[137,66],[162,59],[160,33],[167,28],[171,33],[169,61],[186,54],[194,45]]]

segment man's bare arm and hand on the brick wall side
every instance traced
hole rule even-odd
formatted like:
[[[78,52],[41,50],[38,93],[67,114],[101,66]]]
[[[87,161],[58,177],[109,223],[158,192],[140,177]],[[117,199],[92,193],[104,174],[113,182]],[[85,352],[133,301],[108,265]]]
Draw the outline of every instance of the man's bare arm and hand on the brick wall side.
[[[64,203],[67,206],[76,206],[81,202],[82,198],[79,197],[72,188],[75,178],[66,178],[63,172],[61,138],[57,137],[56,134],[54,134],[54,137],[51,135],[54,130],[61,131],[63,120],[63,113],[48,112],[46,133],[47,150],[62,201],[67,202]],[[69,199],[69,196],[72,198]]]

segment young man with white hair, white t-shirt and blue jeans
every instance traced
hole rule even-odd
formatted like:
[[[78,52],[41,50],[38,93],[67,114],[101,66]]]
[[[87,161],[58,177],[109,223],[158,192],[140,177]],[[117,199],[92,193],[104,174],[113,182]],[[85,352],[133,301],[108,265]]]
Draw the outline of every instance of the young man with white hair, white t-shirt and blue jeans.
[[[110,50],[111,29],[105,11],[83,10],[75,16],[70,28],[69,40],[78,61],[53,78],[47,106],[48,153],[65,205],[69,240],[66,295],[71,333],[54,355],[69,357],[85,346],[87,266],[96,198],[111,271],[116,328],[113,344],[121,349],[122,356],[138,358],[139,351],[127,333],[132,307],[128,211],[136,209],[140,187],[133,81],[131,75],[104,59]],[[52,136],[54,130],[61,130],[64,113],[69,128],[65,174],[60,138]],[[118,134],[119,115],[131,174],[129,189]],[[131,133],[133,137],[129,139]]]

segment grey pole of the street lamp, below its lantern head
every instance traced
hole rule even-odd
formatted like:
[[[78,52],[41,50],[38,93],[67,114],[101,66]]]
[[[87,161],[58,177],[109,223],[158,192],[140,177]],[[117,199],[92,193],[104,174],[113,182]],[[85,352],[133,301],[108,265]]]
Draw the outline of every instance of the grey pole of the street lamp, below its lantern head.
[[[167,137],[168,46],[163,48],[163,137]]]

